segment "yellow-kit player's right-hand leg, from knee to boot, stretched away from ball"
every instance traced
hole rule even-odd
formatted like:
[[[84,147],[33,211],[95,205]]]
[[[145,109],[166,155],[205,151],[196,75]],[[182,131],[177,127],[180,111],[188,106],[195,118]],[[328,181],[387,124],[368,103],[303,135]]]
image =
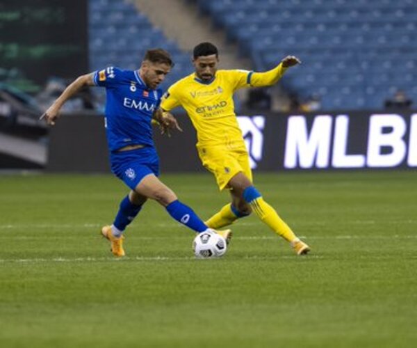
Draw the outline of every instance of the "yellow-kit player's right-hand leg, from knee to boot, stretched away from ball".
[[[252,180],[249,180],[242,172],[236,174],[229,181],[231,187],[236,193],[236,197],[240,197],[240,204],[248,204],[256,216],[268,225],[278,235],[291,242],[293,248],[298,255],[308,253],[309,246],[294,234],[293,230],[282,220],[275,209],[263,200],[261,193],[254,187]]]

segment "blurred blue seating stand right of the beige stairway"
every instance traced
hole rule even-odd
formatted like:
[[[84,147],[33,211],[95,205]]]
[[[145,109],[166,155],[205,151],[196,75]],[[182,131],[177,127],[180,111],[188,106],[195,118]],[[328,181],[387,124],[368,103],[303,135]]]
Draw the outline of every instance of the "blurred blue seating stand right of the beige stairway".
[[[323,109],[380,109],[402,89],[417,101],[414,0],[194,0],[238,42],[255,70],[295,54],[304,62],[283,79]]]

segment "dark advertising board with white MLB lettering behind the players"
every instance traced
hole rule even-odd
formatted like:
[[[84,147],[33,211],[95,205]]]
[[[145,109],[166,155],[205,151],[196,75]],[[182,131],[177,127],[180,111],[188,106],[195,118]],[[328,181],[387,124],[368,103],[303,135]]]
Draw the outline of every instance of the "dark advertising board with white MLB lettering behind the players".
[[[161,170],[204,171],[193,126],[187,116],[177,118],[183,133],[155,131]],[[267,113],[239,121],[256,170],[417,168],[417,113]],[[47,170],[108,172],[106,149],[101,116],[63,116],[51,128]]]

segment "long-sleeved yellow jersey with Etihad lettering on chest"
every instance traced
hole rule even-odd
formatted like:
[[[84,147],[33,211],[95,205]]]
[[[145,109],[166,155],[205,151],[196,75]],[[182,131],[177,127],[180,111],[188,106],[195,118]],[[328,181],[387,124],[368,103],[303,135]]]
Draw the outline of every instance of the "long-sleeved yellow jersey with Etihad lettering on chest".
[[[234,111],[234,92],[238,88],[275,84],[285,70],[281,64],[268,72],[218,70],[211,81],[203,81],[193,73],[168,88],[161,108],[186,109],[197,130],[197,146],[245,146]]]

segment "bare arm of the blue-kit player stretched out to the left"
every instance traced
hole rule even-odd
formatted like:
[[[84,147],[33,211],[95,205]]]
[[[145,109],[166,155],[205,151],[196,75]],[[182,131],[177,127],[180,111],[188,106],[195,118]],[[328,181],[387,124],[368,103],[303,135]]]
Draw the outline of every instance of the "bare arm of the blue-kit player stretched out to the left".
[[[94,84],[94,73],[81,75],[78,77],[72,84],[67,86],[63,93],[55,100],[54,104],[49,106],[49,109],[40,116],[40,120],[44,118],[47,120],[48,125],[55,125],[56,119],[59,116],[60,108],[69,100],[73,95],[75,95],[81,88],[85,86],[95,86]]]

